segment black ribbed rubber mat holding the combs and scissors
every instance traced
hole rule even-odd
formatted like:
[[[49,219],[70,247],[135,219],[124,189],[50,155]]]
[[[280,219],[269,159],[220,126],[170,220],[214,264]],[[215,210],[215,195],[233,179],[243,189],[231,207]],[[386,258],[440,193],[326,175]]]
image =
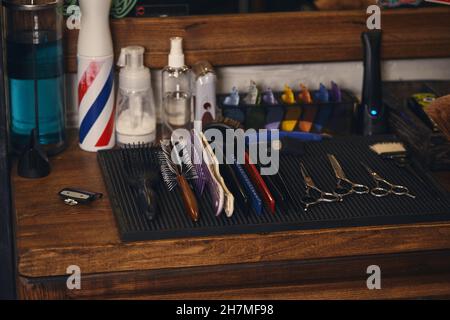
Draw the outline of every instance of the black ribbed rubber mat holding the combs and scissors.
[[[411,174],[372,153],[368,146],[379,141],[396,141],[396,138],[351,137],[308,143],[305,146],[307,155],[302,159],[282,155],[280,160],[280,172],[296,197],[295,203],[284,209],[277,208],[275,215],[268,211],[261,216],[252,211],[244,214],[241,208],[236,208],[229,219],[225,214],[215,217],[209,195],[205,192],[198,199],[199,222],[191,221],[185,214],[179,190],[176,188],[169,192],[162,181],[157,190],[161,212],[156,220],[146,220],[137,209],[135,191],[126,183],[120,151],[99,152],[98,160],[123,241],[450,220],[449,193],[425,171],[414,168],[416,174]],[[148,148],[145,152],[152,153],[153,161],[149,165],[158,170],[155,149]],[[407,186],[417,198],[351,195],[343,202],[323,203],[304,212],[300,203],[304,186],[299,162],[304,162],[320,188],[331,191],[335,179],[327,153],[336,155],[348,178],[354,182],[373,186],[371,177],[360,163],[363,161],[390,182]]]

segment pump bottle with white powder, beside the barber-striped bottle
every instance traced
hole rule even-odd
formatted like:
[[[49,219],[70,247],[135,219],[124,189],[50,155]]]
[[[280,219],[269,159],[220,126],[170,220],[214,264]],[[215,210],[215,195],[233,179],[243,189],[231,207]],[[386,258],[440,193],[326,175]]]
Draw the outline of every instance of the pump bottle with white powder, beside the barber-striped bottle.
[[[152,143],[156,137],[155,102],[151,88],[150,69],[144,66],[144,48],[122,48],[117,65],[116,139],[125,144]]]

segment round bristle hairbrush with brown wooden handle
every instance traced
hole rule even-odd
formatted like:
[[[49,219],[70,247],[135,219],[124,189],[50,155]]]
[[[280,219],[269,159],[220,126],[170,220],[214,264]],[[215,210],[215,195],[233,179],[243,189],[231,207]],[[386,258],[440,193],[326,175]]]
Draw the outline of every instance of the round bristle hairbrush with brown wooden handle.
[[[187,180],[197,179],[197,173],[185,148],[181,143],[172,146],[170,141],[163,140],[161,141],[161,151],[158,154],[158,159],[161,166],[161,175],[167,188],[170,191],[176,186],[181,188],[186,213],[193,221],[198,221],[200,214],[197,199],[187,182]],[[172,157],[176,158],[176,162]]]

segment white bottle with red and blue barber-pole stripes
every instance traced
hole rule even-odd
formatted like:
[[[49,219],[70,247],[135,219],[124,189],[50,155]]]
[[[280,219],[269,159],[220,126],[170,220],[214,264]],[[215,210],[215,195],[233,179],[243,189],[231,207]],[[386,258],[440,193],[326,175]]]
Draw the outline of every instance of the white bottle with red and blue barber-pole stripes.
[[[109,29],[111,0],[80,0],[78,114],[80,147],[96,152],[114,147],[114,55]]]

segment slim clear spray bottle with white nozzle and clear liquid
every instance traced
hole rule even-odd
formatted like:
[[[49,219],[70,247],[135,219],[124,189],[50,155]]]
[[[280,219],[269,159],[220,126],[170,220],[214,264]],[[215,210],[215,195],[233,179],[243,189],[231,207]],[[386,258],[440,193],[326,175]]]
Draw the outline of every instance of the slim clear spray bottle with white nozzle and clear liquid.
[[[170,39],[168,66],[162,71],[163,137],[170,138],[176,129],[190,129],[191,70],[185,65],[183,39]]]

